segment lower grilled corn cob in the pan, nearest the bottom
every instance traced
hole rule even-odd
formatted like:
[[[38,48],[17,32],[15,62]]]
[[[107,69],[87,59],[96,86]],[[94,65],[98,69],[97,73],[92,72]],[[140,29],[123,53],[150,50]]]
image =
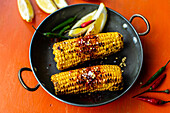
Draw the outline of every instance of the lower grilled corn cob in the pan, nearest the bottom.
[[[123,89],[121,68],[117,65],[97,65],[61,72],[51,76],[55,94],[79,94]]]

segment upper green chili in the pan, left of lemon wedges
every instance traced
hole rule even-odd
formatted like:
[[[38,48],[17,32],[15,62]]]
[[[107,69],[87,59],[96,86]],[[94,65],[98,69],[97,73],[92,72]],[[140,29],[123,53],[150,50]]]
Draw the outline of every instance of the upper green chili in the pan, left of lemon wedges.
[[[52,32],[54,32],[55,30],[60,29],[60,28],[62,28],[62,27],[64,27],[64,26],[72,23],[76,18],[77,18],[77,16],[74,16],[74,17],[71,17],[71,18],[67,19],[67,20],[64,21],[63,23],[61,23],[61,24],[57,25],[55,28],[53,28],[53,29],[52,29]]]

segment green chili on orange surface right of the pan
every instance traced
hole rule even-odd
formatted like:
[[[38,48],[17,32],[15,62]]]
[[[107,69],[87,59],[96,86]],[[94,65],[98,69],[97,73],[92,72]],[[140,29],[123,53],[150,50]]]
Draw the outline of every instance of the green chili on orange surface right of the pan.
[[[163,71],[166,69],[166,66],[168,65],[168,63],[170,62],[170,60],[166,63],[165,66],[163,66],[162,68],[160,68],[144,85],[141,86],[141,88],[148,86],[149,84],[151,84],[157,77],[159,77]]]

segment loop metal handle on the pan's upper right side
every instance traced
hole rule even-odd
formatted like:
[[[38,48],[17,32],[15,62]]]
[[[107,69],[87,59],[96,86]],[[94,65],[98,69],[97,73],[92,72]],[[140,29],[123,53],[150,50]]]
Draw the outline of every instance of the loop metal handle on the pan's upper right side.
[[[129,22],[131,23],[132,20],[133,20],[135,17],[142,18],[143,21],[146,23],[146,26],[147,26],[146,31],[143,32],[143,33],[138,33],[138,35],[139,35],[139,36],[147,35],[147,34],[149,33],[149,31],[150,31],[150,24],[149,24],[148,20],[147,20],[144,16],[142,16],[142,15],[140,15],[140,14],[134,14],[134,15],[132,15],[132,16],[130,17]]]

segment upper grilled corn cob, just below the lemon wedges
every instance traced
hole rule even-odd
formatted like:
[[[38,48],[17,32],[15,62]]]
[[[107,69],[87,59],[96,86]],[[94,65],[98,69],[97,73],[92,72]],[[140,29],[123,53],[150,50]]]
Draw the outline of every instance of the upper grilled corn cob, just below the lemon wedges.
[[[55,43],[53,54],[57,68],[63,70],[91,59],[116,53],[122,48],[123,36],[118,32],[109,32]]]

